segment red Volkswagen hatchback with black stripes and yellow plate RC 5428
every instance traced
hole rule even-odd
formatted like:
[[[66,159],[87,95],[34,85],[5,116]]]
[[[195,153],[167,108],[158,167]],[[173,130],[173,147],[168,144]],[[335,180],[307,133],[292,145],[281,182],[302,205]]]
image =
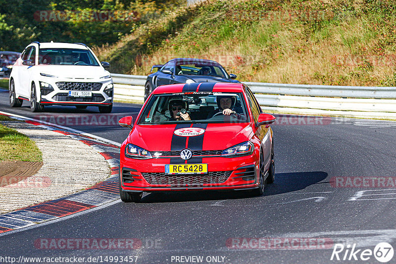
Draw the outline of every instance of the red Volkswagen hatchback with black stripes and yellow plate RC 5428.
[[[250,89],[237,83],[155,88],[120,150],[120,196],[143,192],[247,190],[261,195],[274,181],[275,117],[262,113]]]

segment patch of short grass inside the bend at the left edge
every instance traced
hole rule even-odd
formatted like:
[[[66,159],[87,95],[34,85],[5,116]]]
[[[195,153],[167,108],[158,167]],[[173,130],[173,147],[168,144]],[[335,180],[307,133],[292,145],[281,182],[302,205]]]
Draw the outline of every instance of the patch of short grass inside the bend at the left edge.
[[[6,119],[0,115],[1,119]],[[35,142],[14,129],[0,125],[0,161],[43,161]]]

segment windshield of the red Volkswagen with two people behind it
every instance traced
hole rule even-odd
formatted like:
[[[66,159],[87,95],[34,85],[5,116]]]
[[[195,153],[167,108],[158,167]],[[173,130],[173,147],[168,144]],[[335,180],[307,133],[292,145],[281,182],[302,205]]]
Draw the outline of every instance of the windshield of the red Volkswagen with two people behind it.
[[[234,112],[231,115],[223,115],[224,109],[231,109]],[[138,124],[246,123],[249,122],[246,109],[241,93],[155,94],[148,101]]]

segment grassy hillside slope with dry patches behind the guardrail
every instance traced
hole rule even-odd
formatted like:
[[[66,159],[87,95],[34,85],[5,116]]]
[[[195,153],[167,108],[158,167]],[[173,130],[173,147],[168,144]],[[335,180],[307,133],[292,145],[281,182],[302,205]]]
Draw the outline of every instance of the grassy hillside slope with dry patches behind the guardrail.
[[[117,73],[198,57],[241,81],[396,86],[395,11],[385,0],[210,0],[96,52]]]

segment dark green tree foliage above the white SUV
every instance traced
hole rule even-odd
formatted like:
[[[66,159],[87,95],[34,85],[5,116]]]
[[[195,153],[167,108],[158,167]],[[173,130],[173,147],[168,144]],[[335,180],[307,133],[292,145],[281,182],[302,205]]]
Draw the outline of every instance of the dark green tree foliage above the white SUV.
[[[32,41],[112,44],[183,0],[0,0],[1,50],[22,51]],[[41,21],[40,11],[65,12],[61,21]],[[129,19],[94,21],[92,14],[130,13]],[[44,16],[43,16],[44,17]],[[100,20],[100,19],[99,19]]]

